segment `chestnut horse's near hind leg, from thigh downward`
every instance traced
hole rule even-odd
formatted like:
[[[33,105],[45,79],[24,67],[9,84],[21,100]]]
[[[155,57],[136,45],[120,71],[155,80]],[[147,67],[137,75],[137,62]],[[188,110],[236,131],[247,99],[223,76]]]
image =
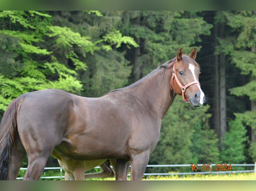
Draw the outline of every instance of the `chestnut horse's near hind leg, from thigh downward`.
[[[30,111],[23,111],[23,114],[19,114],[20,117],[17,119],[20,141],[28,156],[28,166],[23,180],[38,180],[47,159],[63,137],[55,125],[52,125],[52,120],[48,118],[47,121],[42,121],[31,113],[25,115],[28,112]]]

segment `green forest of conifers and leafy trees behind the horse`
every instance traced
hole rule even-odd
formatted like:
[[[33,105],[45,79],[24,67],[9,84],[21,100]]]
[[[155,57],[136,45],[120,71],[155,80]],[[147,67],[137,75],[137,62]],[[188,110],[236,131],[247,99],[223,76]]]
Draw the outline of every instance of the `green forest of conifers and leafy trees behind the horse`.
[[[254,163],[256,11],[1,11],[0,119],[26,92],[105,95],[180,47],[198,50],[207,102],[176,96],[149,164]]]

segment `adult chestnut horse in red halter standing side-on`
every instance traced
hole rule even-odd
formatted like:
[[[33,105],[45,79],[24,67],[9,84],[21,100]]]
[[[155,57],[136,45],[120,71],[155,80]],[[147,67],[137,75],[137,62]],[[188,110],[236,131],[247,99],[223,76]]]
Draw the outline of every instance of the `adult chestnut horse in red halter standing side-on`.
[[[194,107],[204,103],[196,54],[180,48],[144,78],[102,97],[46,89],[15,98],[0,124],[0,180],[15,179],[26,155],[23,180],[39,179],[53,151],[74,160],[115,159],[116,180],[126,179],[131,164],[131,180],[142,180],[175,96]]]

